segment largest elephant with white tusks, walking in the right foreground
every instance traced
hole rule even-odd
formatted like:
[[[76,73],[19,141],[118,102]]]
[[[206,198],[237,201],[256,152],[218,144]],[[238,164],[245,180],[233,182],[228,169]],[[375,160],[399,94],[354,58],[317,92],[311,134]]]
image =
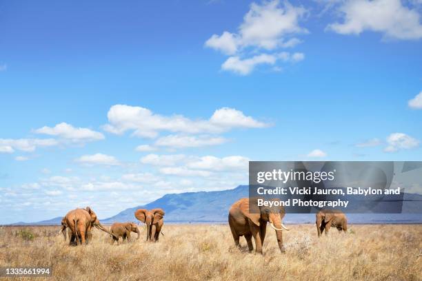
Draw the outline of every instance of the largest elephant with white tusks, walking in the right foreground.
[[[251,208],[251,209],[250,209]],[[239,249],[240,236],[245,236],[248,242],[249,251],[252,252],[254,247],[252,237],[255,240],[256,253],[262,254],[262,246],[267,231],[267,222],[275,230],[279,249],[282,253],[285,251],[283,246],[282,230],[290,230],[283,225],[283,217],[285,216],[284,207],[259,207],[257,198],[241,198],[235,202],[230,208],[228,222],[232,231],[234,244]]]

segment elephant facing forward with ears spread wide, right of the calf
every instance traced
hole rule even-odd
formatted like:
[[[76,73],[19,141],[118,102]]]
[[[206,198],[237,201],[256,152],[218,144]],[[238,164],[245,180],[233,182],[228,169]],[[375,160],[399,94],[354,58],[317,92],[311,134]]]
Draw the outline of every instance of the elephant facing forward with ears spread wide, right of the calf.
[[[158,242],[159,235],[161,232],[161,227],[163,227],[164,220],[164,211],[163,209],[137,209],[134,212],[135,218],[147,225],[147,241]],[[161,232],[161,234],[163,234]],[[164,234],[163,234],[164,235]]]

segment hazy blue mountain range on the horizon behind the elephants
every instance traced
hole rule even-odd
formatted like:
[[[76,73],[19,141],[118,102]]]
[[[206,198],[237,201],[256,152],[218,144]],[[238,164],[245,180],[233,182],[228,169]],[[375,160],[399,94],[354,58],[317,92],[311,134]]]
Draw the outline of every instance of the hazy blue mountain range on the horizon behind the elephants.
[[[235,189],[223,191],[185,192],[166,194],[147,205],[125,209],[119,214],[101,220],[103,224],[113,222],[137,221],[134,211],[137,209],[162,208],[165,222],[172,223],[225,223],[228,209],[239,200],[248,197],[248,185],[239,185]],[[421,202],[419,214],[348,214],[350,223],[422,223],[422,195],[405,194],[405,200]],[[17,222],[13,225],[60,225],[62,217],[40,222]],[[286,223],[314,223],[314,214],[286,214]]]

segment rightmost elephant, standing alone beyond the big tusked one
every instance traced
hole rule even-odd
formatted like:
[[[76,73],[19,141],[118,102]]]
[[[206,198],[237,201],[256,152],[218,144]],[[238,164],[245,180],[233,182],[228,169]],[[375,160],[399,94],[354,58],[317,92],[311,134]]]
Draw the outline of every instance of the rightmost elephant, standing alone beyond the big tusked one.
[[[325,230],[325,235],[328,235],[330,227],[336,227],[341,232],[348,231],[348,218],[345,214],[339,210],[321,210],[315,214],[316,217],[316,230],[318,231],[318,237],[321,236]]]

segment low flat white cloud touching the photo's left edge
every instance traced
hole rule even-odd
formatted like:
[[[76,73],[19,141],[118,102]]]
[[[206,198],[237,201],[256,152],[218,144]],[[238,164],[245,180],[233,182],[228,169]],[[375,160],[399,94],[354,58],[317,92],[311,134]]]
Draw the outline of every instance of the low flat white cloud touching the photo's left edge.
[[[23,152],[33,152],[37,147],[49,147],[58,145],[54,138],[0,138],[0,152],[14,152],[21,150]]]

